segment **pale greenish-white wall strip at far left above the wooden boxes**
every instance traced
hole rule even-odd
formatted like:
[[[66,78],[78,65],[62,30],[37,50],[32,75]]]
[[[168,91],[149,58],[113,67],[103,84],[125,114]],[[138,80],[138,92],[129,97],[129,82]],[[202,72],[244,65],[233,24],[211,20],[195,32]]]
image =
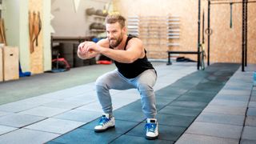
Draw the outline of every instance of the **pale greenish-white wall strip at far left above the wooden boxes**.
[[[3,0],[2,18],[8,46],[18,46],[22,70],[30,70],[28,35],[28,0]]]

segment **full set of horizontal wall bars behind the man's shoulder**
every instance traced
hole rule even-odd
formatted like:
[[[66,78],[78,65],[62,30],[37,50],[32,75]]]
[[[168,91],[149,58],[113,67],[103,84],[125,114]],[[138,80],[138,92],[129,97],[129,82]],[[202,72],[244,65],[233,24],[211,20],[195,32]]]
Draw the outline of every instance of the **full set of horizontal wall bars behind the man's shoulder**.
[[[142,39],[149,58],[166,58],[166,51],[179,44],[180,18],[177,16],[130,16],[127,19],[129,34]]]

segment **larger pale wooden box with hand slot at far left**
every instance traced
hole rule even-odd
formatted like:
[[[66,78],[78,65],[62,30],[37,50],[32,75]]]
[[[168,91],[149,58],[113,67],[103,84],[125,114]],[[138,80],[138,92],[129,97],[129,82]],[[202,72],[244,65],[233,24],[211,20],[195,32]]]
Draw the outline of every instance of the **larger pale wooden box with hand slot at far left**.
[[[18,47],[5,46],[3,48],[3,80],[18,79]]]

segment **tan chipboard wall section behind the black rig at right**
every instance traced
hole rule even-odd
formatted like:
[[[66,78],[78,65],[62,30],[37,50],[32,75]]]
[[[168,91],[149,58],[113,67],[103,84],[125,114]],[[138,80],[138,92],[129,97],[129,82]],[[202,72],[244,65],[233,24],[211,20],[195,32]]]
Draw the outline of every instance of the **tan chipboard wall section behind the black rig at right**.
[[[247,60],[256,63],[256,3],[248,5]],[[207,6],[205,6],[207,7]],[[232,28],[230,28],[230,5],[211,5],[210,38],[211,62],[242,62],[242,3],[232,6]]]

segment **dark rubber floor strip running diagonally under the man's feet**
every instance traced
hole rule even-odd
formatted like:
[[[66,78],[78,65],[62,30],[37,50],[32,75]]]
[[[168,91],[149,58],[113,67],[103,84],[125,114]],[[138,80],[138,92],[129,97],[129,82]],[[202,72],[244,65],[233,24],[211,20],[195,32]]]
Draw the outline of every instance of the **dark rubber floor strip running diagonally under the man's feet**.
[[[222,90],[238,67],[238,64],[215,63],[204,71],[196,71],[157,90],[157,140],[150,141],[145,138],[145,118],[138,100],[114,110],[114,129],[94,133],[94,126],[98,122],[94,120],[47,143],[174,143],[218,91]]]

